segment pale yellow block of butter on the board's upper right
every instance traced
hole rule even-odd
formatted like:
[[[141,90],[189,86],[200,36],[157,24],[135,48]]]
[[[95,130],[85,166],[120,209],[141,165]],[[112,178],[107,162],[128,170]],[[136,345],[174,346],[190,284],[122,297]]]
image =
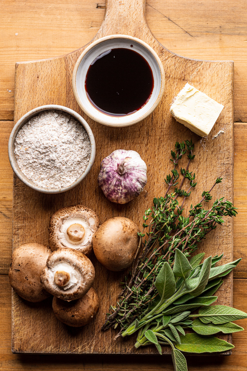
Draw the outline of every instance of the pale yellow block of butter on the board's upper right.
[[[176,96],[170,112],[178,122],[204,137],[210,133],[223,108],[187,83]]]

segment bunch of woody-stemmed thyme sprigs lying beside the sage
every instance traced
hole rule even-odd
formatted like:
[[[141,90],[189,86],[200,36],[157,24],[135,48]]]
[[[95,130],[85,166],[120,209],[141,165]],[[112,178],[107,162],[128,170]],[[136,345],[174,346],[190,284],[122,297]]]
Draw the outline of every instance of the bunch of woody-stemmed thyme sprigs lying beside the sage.
[[[148,306],[158,295],[154,283],[164,262],[173,266],[175,250],[179,249],[185,256],[190,256],[197,249],[197,244],[216,228],[224,223],[223,217],[236,216],[236,208],[229,201],[220,198],[209,210],[202,206],[203,202],[211,200],[210,192],[216,184],[221,183],[218,177],[209,191],[203,191],[202,198],[194,207],[191,205],[188,216],[183,216],[184,203],[196,187],[195,174],[190,172],[189,165],[194,159],[194,144],[192,141],[176,142],[175,151],[171,151],[173,169],[165,178],[168,185],[164,197],[154,198],[153,206],[145,211],[143,216],[143,231],[139,233],[140,243],[134,257],[129,275],[122,282],[123,290],[116,306],[110,307],[107,319],[102,329],[120,326],[115,339],[135,319],[140,318]],[[179,184],[178,163],[186,154],[188,164],[181,168]],[[184,181],[189,183],[188,189],[183,189]],[[178,185],[179,184],[179,185]],[[181,204],[178,197],[182,197]],[[143,241],[143,237],[145,237]]]

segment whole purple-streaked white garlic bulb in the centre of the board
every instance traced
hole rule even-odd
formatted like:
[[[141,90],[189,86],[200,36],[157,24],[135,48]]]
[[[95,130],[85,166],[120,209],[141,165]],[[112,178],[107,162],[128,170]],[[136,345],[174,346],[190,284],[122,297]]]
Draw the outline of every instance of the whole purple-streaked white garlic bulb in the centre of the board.
[[[116,150],[101,162],[98,183],[110,201],[126,204],[143,191],[147,165],[136,151]]]

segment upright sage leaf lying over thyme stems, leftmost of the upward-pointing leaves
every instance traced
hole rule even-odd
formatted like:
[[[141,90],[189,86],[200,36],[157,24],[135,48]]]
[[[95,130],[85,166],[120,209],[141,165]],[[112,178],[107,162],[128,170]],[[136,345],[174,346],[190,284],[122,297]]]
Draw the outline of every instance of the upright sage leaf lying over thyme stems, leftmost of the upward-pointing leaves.
[[[170,298],[176,289],[176,282],[170,265],[165,262],[154,283],[161,300]]]

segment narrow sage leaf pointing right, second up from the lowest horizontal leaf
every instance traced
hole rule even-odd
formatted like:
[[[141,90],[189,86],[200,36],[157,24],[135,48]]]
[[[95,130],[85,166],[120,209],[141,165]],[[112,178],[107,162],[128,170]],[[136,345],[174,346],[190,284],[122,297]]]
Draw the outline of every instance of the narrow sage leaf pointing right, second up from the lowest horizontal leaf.
[[[177,327],[177,326],[176,326]],[[200,335],[213,335],[217,332],[223,332],[223,334],[231,334],[232,332],[243,331],[243,327],[240,327],[233,322],[227,322],[226,324],[204,324],[199,318],[193,321],[192,329]]]

